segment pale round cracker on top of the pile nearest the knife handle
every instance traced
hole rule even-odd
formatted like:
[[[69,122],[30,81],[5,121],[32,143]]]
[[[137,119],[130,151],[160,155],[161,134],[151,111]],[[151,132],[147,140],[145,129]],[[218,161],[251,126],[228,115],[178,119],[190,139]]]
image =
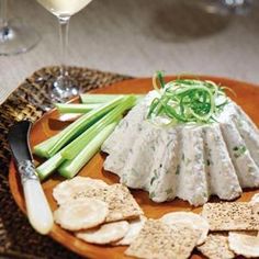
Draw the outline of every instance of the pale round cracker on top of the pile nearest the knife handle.
[[[105,221],[108,204],[97,199],[78,199],[61,204],[54,212],[54,219],[63,228],[80,230],[95,227]]]

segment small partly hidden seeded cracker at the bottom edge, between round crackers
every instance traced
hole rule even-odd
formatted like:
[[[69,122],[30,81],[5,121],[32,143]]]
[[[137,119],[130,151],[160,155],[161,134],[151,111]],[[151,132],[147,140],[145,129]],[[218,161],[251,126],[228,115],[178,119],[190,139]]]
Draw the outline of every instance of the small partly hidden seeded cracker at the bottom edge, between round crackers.
[[[210,259],[232,259],[235,254],[229,249],[227,234],[210,234],[205,243],[198,247]]]

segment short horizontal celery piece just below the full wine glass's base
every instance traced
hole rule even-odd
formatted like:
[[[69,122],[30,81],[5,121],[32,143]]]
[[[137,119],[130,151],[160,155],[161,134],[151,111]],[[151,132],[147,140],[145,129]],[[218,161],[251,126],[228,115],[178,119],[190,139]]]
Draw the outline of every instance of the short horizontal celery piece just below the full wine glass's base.
[[[59,113],[87,113],[100,108],[100,104],[56,103]]]

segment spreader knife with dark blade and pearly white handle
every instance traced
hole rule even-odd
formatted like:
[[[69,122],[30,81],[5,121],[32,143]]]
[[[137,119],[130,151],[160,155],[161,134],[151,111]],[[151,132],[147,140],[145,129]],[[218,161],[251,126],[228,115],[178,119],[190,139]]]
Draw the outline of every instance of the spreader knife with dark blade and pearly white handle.
[[[30,121],[15,123],[9,131],[8,140],[21,177],[29,221],[36,232],[45,235],[52,229],[54,221],[30,149],[31,126]]]

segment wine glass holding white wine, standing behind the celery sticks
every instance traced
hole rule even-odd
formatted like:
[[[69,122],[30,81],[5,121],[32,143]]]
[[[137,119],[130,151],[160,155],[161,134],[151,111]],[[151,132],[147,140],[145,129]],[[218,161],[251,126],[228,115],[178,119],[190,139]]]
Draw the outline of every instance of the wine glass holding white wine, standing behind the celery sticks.
[[[91,0],[37,0],[45,9],[57,16],[60,38],[60,68],[59,76],[50,83],[49,94],[53,101],[64,102],[78,95],[80,89],[66,70],[68,47],[68,26],[72,14],[83,9]]]

